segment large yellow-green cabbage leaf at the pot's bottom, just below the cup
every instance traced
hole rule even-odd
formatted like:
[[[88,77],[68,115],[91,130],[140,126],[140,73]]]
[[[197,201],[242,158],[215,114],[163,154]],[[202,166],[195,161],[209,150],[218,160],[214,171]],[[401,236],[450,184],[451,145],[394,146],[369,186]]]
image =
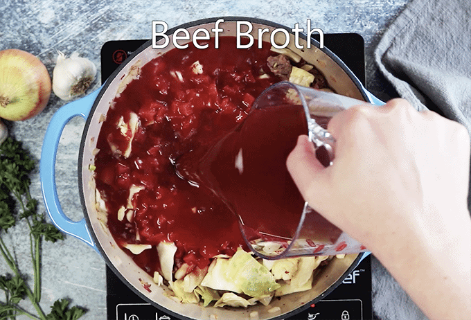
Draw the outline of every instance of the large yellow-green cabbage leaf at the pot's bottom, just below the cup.
[[[226,278],[231,279],[248,296],[263,296],[277,290],[273,274],[251,254],[239,249],[229,259]]]

